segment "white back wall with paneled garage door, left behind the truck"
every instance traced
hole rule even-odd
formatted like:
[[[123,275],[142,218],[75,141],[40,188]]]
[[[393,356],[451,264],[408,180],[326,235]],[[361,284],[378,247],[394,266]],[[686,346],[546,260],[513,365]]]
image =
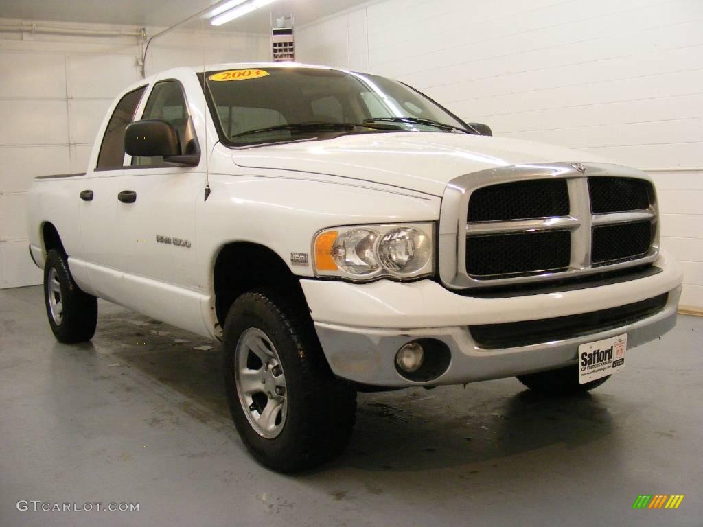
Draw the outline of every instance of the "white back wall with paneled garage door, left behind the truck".
[[[0,19],[0,26],[21,20]],[[134,27],[59,24],[65,30]],[[150,30],[153,34],[158,29]],[[266,60],[266,35],[168,34],[149,48],[147,74],[202,61]],[[137,37],[0,32],[0,287],[41,282],[27,251],[25,194],[34,176],[85,171],[105,110],[141,77]]]

